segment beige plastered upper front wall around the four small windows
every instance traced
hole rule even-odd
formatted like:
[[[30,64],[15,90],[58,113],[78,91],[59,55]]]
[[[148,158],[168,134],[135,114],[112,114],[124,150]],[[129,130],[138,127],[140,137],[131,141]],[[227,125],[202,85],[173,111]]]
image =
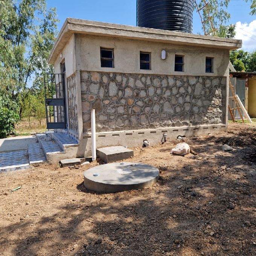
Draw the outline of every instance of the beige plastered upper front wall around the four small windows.
[[[114,49],[114,68],[101,68],[100,48]],[[76,70],[158,75],[228,76],[229,50],[165,44],[114,37],[75,35]],[[166,59],[161,51],[166,50]],[[151,70],[140,70],[140,51],[151,52]],[[184,55],[184,72],[174,71],[174,57]],[[214,58],[213,73],[205,73],[205,58]]]

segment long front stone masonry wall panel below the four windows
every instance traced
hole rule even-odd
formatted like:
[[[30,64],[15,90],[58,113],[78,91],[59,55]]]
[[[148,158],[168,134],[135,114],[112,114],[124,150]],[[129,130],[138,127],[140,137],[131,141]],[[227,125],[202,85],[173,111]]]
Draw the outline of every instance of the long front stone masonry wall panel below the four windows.
[[[226,77],[81,71],[84,131],[91,108],[96,131],[224,123]]]

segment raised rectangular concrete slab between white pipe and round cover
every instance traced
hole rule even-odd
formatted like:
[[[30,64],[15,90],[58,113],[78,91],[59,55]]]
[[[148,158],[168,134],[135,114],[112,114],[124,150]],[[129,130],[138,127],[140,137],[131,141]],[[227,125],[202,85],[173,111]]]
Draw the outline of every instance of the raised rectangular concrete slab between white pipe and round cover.
[[[113,163],[123,159],[133,157],[133,150],[123,146],[113,146],[97,149],[98,156],[105,163]]]

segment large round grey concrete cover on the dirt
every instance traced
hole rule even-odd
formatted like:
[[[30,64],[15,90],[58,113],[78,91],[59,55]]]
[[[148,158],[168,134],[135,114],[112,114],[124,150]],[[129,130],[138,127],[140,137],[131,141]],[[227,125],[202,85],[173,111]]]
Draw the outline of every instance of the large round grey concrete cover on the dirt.
[[[149,187],[159,178],[159,170],[142,163],[108,163],[84,172],[84,186],[88,190],[115,193]]]

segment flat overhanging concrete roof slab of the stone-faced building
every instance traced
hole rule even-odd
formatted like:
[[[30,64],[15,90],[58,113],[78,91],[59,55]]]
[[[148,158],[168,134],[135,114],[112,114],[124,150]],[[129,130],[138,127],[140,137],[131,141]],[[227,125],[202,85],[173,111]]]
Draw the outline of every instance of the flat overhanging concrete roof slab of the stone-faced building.
[[[98,21],[67,18],[64,22],[48,62],[53,64],[72,34],[100,35],[105,37],[130,38],[170,44],[211,47],[235,50],[242,47],[242,40],[195,35],[162,29],[127,26]]]

